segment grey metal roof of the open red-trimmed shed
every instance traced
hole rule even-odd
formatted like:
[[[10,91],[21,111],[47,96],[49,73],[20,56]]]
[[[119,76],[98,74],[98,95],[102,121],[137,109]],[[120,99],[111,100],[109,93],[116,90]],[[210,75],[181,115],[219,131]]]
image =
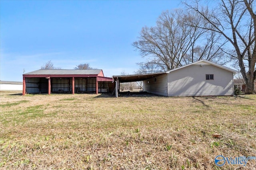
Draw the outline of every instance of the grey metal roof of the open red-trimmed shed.
[[[64,70],[64,69],[56,69],[56,70],[36,70],[32,72],[25,73],[24,75],[80,75],[80,74],[99,74],[102,70]]]

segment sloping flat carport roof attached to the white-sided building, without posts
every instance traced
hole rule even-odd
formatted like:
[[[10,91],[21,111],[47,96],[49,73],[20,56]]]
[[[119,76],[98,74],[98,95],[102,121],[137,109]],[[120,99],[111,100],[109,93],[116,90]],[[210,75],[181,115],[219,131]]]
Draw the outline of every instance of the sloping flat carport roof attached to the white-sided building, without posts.
[[[120,75],[120,76],[113,76],[113,78],[116,80],[118,79],[120,83],[124,82],[137,82],[137,81],[143,81],[147,80],[149,78],[153,78],[156,76],[161,76],[163,74],[166,74],[166,72],[156,72],[156,73],[147,73],[147,74],[132,74],[132,75]]]

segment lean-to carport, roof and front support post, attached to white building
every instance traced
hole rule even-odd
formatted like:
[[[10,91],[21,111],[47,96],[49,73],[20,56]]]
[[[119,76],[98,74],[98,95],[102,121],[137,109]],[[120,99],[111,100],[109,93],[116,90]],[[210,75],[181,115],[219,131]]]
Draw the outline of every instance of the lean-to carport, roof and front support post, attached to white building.
[[[120,83],[144,81],[163,74],[166,74],[166,72],[113,76],[113,80],[116,82],[116,98],[118,98],[118,92],[120,91]]]

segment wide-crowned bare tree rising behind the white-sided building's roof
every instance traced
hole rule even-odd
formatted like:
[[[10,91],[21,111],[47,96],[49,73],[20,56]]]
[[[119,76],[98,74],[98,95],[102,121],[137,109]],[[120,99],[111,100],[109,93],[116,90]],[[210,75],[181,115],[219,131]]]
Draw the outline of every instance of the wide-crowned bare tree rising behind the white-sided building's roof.
[[[209,30],[189,26],[188,23],[192,21],[200,27],[206,24],[196,12],[188,13],[178,9],[163,12],[155,27],[143,27],[138,41],[133,43],[140,55],[148,59],[144,63],[138,63],[141,70],[167,71],[194,62],[196,59],[213,61],[221,51],[219,37]],[[205,38],[206,34],[212,36]],[[201,44],[204,46],[200,46]],[[194,48],[202,49],[201,56],[194,57]]]

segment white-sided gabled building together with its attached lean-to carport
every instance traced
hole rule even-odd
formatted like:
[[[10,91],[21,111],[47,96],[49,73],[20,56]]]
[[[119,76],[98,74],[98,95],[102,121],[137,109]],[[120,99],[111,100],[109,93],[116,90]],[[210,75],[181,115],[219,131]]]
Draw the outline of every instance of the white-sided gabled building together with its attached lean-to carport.
[[[200,60],[167,72],[113,76],[113,79],[117,87],[121,82],[143,81],[144,92],[162,96],[231,96],[235,73],[228,67]]]

